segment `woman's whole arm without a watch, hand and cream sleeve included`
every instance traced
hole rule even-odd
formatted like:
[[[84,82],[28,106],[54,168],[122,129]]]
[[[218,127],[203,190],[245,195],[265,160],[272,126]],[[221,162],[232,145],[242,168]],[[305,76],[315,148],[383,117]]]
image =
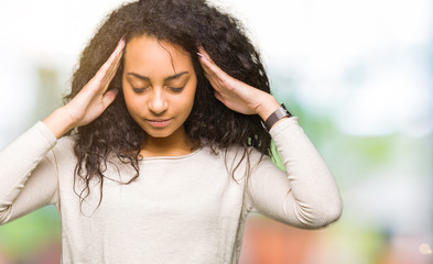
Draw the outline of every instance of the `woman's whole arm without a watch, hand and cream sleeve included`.
[[[123,54],[125,40],[86,86],[67,105],[0,152],[0,223],[58,200],[56,139],[98,118],[115,100],[107,90]]]

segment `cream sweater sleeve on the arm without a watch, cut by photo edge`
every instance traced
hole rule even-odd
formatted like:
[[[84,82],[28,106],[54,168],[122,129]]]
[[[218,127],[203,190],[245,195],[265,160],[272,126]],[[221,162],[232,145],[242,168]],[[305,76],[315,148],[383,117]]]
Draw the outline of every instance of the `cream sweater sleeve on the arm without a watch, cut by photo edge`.
[[[53,133],[37,122],[0,151],[0,224],[57,202]]]

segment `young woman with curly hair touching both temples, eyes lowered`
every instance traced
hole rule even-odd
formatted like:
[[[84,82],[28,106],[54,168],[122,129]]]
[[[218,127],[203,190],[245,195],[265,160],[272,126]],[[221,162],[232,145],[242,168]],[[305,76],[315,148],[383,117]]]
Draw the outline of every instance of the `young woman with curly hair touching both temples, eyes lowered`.
[[[63,263],[237,263],[251,210],[305,229],[342,211],[239,23],[203,0],[115,10],[65,105],[1,151],[0,180],[1,223],[56,205]]]

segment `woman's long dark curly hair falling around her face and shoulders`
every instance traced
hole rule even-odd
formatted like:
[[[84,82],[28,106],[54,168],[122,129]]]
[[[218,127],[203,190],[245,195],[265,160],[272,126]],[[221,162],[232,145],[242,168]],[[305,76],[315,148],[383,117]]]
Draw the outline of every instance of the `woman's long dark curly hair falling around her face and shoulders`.
[[[251,147],[262,156],[271,155],[271,138],[262,128],[260,117],[241,114],[225,107],[215,98],[214,89],[204,76],[196,54],[197,45],[202,45],[228,75],[270,92],[260,55],[240,22],[205,0],[141,0],[112,11],[84,50],[79,66],[73,75],[71,94],[64,98],[65,103],[94,77],[122,36],[128,43],[142,35],[177,44],[192,57],[197,87],[193,110],[184,123],[190,139],[208,144],[214,152],[227,152],[229,146],[240,146],[243,154],[231,172],[232,177],[245,158],[249,169]],[[139,177],[139,153],[147,135],[127,110],[121,89],[122,72],[121,63],[108,88],[119,90],[115,101],[96,120],[74,130],[74,153],[78,160],[74,191],[80,198],[80,206],[90,194],[90,179],[97,177],[100,184],[99,207],[104,173],[107,162],[112,163],[112,155],[136,170],[134,177],[121,184],[130,184]],[[68,134],[72,133],[69,131]],[[246,175],[248,180],[249,173]],[[86,185],[79,194],[75,187],[78,179]]]

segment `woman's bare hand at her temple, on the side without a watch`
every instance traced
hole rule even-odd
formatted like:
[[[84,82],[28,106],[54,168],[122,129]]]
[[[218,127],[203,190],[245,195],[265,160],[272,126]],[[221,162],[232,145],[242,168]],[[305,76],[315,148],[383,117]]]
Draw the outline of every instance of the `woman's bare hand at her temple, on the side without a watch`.
[[[107,89],[120,65],[125,45],[125,40],[120,40],[111,56],[83,89],[67,105],[44,119],[43,122],[57,139],[97,119],[115,100],[118,91]]]

